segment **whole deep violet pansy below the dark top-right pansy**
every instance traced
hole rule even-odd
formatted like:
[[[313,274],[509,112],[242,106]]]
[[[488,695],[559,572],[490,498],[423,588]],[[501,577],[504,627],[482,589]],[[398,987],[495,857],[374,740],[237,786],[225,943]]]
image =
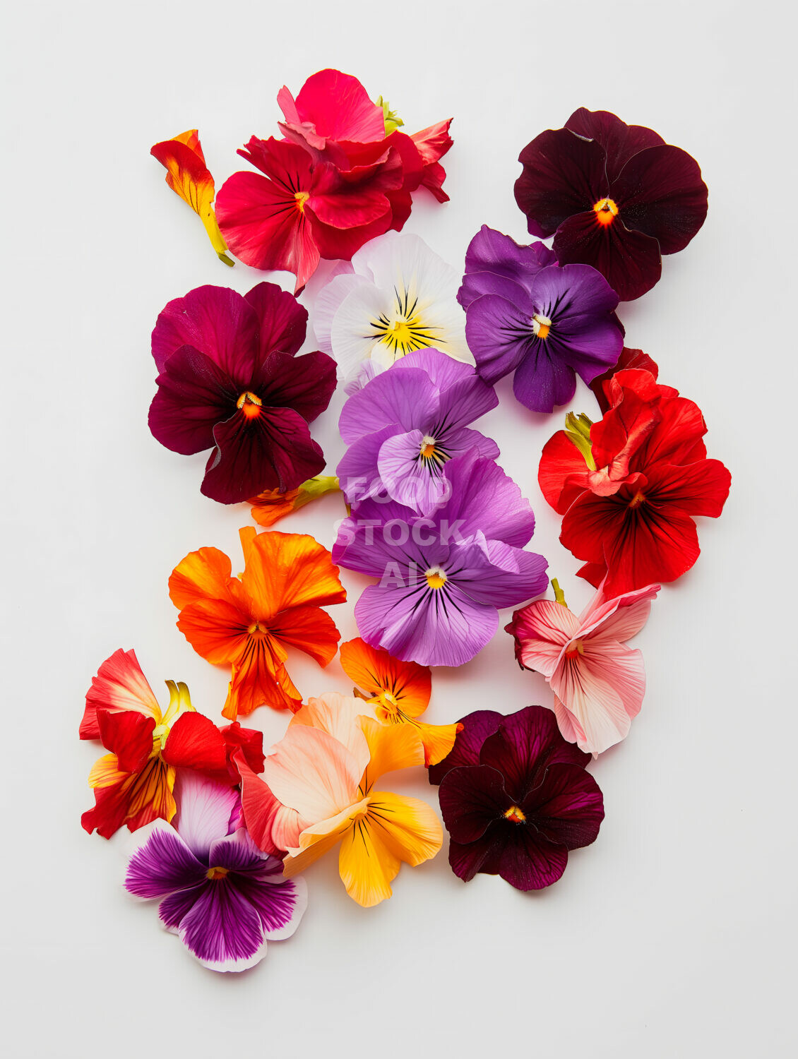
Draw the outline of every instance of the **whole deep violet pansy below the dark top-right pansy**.
[[[618,295],[604,276],[552,257],[542,243],[520,247],[483,226],[458,293],[480,376],[494,383],[515,372],[513,392],[533,412],[570,400],[577,375],[590,382],[623,348]]]

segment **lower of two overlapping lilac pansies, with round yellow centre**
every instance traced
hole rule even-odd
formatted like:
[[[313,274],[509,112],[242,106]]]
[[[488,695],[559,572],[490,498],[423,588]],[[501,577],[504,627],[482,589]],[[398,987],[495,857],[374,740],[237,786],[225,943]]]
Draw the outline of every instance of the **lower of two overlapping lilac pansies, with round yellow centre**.
[[[431,514],[365,500],[333,545],[334,562],[379,578],[355,605],[362,639],[421,665],[468,662],[496,632],[498,608],[548,585],[546,560],[522,550],[535,520],[512,479],[474,451],[444,477],[448,499]]]

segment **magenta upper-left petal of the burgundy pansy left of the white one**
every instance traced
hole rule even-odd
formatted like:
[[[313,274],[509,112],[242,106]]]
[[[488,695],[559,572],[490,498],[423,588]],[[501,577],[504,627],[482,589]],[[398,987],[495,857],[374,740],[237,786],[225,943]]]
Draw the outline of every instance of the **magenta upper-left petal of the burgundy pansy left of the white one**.
[[[158,371],[180,346],[191,345],[244,389],[254,366],[258,324],[258,313],[234,290],[197,287],[170,302],[158,317],[153,331]]]

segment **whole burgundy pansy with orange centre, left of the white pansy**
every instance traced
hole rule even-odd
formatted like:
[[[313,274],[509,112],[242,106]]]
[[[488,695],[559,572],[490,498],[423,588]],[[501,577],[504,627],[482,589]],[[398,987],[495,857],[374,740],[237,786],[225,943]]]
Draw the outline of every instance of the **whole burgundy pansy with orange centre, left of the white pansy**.
[[[285,492],[323,469],[308,424],[330,403],[335,361],[296,356],[306,325],[305,309],[271,283],[244,297],[197,287],[158,317],[149,429],[173,452],[213,449],[201,486],[212,500]]]

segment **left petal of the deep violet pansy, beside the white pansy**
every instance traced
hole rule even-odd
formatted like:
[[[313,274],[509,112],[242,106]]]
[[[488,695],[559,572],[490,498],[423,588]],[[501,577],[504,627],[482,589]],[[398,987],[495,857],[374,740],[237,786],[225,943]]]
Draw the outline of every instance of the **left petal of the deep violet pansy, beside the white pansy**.
[[[533,313],[529,294],[522,287],[517,288],[513,301],[484,294],[468,306],[465,339],[485,382],[497,382],[522,361],[534,339]]]

